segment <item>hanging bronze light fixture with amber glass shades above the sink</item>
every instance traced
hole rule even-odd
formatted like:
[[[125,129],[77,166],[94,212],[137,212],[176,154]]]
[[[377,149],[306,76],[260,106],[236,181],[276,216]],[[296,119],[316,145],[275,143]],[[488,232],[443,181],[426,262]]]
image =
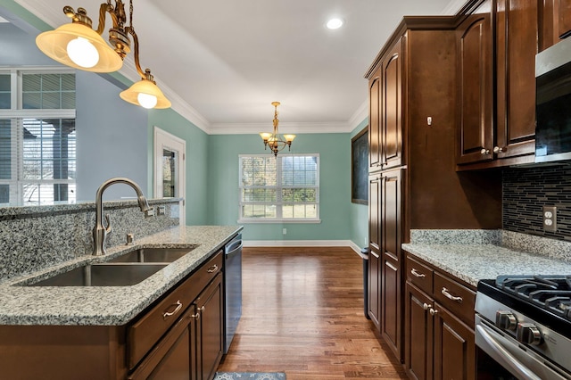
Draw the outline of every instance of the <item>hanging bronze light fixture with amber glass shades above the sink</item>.
[[[113,72],[123,65],[125,56],[131,51],[129,35],[133,38],[135,66],[141,80],[120,93],[121,99],[145,108],[169,108],[170,101],[157,87],[151,70],[141,70],[139,63],[139,41],[133,28],[133,0],[129,0],[129,19],[121,0],[107,0],[99,6],[97,30],[84,8],[66,5],[63,12],[71,19],[70,24],[41,33],[36,38],[37,47],[48,57],[74,69],[92,72]],[[109,29],[108,45],[101,35],[105,28],[105,16],[109,13],[112,28]]]

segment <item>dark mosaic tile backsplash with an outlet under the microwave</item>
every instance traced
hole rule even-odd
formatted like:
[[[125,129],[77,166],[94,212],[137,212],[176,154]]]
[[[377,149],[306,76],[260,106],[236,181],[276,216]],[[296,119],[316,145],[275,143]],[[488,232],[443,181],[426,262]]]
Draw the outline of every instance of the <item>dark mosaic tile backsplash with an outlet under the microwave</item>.
[[[571,241],[571,164],[503,169],[504,230]],[[557,207],[557,231],[543,231],[542,207]]]

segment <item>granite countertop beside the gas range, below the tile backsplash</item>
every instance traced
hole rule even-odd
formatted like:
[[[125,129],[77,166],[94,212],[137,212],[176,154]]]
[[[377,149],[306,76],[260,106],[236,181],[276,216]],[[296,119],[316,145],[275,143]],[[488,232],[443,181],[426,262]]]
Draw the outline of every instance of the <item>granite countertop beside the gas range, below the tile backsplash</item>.
[[[402,249],[476,287],[501,275],[561,275],[571,262],[496,244],[402,244]]]

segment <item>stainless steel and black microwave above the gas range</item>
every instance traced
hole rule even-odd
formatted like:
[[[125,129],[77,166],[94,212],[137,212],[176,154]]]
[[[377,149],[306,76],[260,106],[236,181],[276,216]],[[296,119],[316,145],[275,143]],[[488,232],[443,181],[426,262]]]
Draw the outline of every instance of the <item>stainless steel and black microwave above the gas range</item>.
[[[571,37],[535,56],[535,162],[571,160]]]

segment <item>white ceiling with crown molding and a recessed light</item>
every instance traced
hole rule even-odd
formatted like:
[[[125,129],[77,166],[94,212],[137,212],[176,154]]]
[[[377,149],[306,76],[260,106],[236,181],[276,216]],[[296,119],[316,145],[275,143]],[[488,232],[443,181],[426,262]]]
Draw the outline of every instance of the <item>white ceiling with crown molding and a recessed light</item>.
[[[102,0],[16,0],[54,28],[64,5],[97,23]],[[128,10],[128,0],[126,9]],[[114,2],[112,2],[114,4]],[[453,14],[461,0],[137,0],[143,69],[173,108],[211,134],[271,127],[349,132],[367,116],[363,78],[403,15]],[[341,29],[325,23],[341,17]],[[106,28],[111,28],[107,16]],[[137,80],[132,54],[120,71]]]

